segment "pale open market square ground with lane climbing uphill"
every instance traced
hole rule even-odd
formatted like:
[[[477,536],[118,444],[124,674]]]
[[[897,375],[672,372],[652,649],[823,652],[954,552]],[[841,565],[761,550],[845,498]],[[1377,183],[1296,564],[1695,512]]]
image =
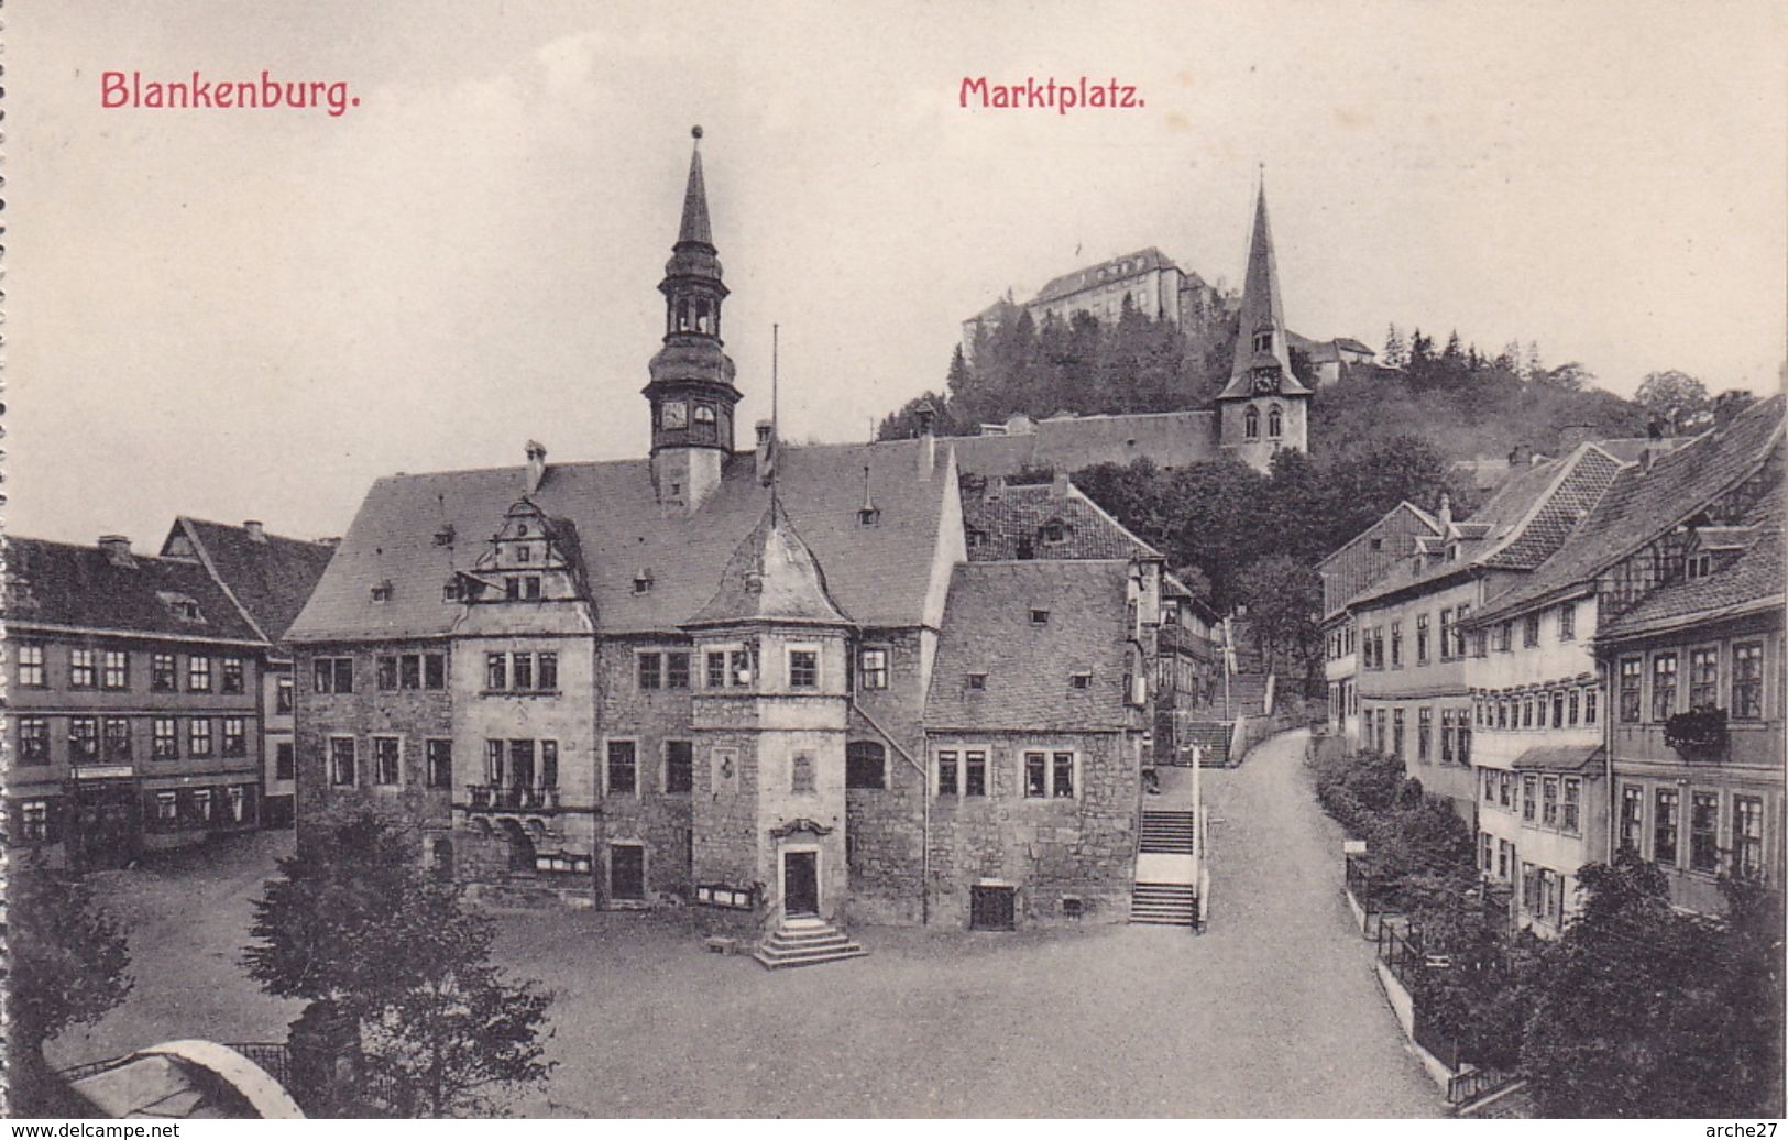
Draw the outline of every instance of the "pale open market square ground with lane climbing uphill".
[[[869,958],[771,974],[703,952],[678,915],[508,913],[502,958],[558,992],[560,1069],[545,1095],[517,1108],[1438,1115],[1439,1094],[1379,997],[1371,951],[1350,935],[1339,833],[1307,790],[1302,750],[1302,734],[1287,736],[1236,772],[1207,774],[1223,824],[1202,938],[1168,927],[864,927],[853,933]],[[55,1060],[166,1036],[281,1038],[297,1008],[261,997],[234,967],[263,874],[193,861],[190,890],[132,904],[138,993],[95,1033],[59,1042]],[[157,872],[150,886],[172,895],[177,879]],[[114,877],[109,892],[123,884]]]

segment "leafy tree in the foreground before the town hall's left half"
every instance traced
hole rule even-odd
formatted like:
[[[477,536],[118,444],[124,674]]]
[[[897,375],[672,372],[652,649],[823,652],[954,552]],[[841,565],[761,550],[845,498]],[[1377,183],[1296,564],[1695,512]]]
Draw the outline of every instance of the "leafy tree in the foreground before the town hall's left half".
[[[417,836],[365,808],[316,824],[254,904],[249,976],[361,1031],[388,1090],[361,1111],[488,1115],[545,1079],[549,997],[490,965],[495,927],[427,874]]]

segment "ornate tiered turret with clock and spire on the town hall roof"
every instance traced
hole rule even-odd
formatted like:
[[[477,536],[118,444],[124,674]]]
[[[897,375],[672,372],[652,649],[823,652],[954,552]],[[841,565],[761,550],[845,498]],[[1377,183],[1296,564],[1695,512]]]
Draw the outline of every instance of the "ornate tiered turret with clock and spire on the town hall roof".
[[[667,511],[694,511],[721,486],[721,465],[733,454],[733,361],[722,350],[721,259],[708,227],[708,189],[701,179],[701,127],[683,191],[678,229],[665,279],[663,348],[653,356],[644,395],[653,415],[653,484]]]

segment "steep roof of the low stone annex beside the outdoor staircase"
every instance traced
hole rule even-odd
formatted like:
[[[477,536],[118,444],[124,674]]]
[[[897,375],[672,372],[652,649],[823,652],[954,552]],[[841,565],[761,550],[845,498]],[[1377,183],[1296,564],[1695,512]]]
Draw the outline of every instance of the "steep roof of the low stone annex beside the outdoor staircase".
[[[926,729],[1116,731],[1126,725],[1128,563],[960,563],[939,636]],[[1032,609],[1046,609],[1044,624]],[[1091,672],[1089,688],[1071,677]],[[987,688],[971,690],[969,674]]]

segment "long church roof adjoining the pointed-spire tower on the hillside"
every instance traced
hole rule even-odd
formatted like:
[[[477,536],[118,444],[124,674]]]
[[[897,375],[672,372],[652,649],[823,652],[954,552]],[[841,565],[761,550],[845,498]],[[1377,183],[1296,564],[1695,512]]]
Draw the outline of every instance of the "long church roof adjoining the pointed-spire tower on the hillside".
[[[1014,436],[949,436],[957,466],[974,475],[1016,475],[1023,470],[1076,472],[1096,463],[1125,466],[1187,466],[1218,456],[1212,411],[1160,411],[1130,416],[1051,416]]]

